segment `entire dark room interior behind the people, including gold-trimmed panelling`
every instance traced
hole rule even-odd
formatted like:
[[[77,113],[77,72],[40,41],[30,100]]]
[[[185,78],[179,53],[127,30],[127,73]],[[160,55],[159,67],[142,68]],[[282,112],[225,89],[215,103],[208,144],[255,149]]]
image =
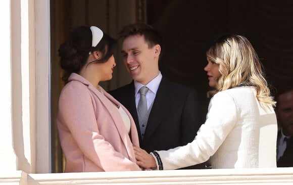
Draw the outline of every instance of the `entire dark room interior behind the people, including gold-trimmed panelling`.
[[[55,122],[64,85],[57,51],[77,25],[99,26],[114,38],[122,24],[146,22],[154,26],[164,40],[162,74],[198,90],[203,118],[209,103],[205,48],[215,35],[246,36],[261,59],[272,91],[279,81],[293,78],[292,0],[51,0],[50,5],[52,172],[63,172],[65,165]],[[104,84],[107,90],[124,85],[119,80],[125,76],[117,74],[130,78],[121,60],[119,64],[120,57],[116,59],[116,80]]]

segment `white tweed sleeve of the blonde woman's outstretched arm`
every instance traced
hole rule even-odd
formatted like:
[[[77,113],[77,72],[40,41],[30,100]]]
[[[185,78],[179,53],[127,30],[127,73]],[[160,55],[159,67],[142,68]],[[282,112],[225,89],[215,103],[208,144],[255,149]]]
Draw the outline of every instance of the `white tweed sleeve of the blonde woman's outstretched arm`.
[[[163,169],[177,169],[207,161],[224,142],[236,120],[237,108],[233,99],[218,92],[210,102],[206,122],[191,143],[168,151],[157,151]]]

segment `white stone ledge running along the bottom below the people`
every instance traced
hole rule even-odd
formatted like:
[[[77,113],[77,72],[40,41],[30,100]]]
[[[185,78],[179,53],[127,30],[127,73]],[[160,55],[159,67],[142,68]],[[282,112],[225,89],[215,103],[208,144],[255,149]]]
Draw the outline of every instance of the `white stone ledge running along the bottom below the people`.
[[[36,184],[293,184],[293,168],[28,174]]]

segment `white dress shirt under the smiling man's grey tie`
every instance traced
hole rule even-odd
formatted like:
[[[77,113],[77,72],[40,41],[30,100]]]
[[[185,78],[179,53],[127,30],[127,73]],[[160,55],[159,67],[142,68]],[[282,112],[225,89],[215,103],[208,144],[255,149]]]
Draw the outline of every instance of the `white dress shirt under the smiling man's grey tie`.
[[[140,89],[140,87],[146,86],[149,88],[149,90],[145,94],[146,104],[148,105],[148,110],[149,110],[150,106],[152,105],[152,103],[154,102],[156,98],[156,94],[157,94],[159,85],[161,83],[161,80],[162,80],[161,72],[159,72],[159,75],[146,85],[142,85],[141,83],[134,80],[134,93],[135,93],[134,95],[135,95],[136,108],[140,99],[140,94],[138,93],[138,90]]]

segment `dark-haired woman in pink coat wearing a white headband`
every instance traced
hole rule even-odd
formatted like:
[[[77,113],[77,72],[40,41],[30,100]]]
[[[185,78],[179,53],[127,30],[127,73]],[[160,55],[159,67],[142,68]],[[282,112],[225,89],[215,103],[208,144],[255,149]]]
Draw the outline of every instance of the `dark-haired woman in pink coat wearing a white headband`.
[[[65,172],[141,170],[132,145],[138,136],[129,112],[100,81],[112,78],[116,40],[95,26],[79,26],[60,45],[69,76],[59,99],[57,126]]]

